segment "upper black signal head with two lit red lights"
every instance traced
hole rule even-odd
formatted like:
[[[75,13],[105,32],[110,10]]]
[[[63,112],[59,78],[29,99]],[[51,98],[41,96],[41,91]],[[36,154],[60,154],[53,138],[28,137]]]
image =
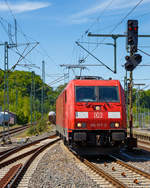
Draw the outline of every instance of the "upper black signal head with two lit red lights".
[[[128,20],[127,22],[127,44],[131,46],[133,53],[137,52],[138,20]]]

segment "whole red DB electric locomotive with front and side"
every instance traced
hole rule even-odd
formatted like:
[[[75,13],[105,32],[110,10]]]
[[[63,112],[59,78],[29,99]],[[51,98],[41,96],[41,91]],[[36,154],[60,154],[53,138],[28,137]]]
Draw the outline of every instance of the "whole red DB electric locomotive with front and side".
[[[124,90],[118,80],[78,77],[56,101],[56,131],[69,145],[119,146],[127,136]]]

